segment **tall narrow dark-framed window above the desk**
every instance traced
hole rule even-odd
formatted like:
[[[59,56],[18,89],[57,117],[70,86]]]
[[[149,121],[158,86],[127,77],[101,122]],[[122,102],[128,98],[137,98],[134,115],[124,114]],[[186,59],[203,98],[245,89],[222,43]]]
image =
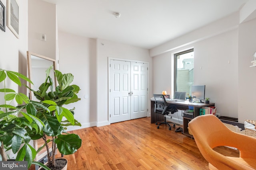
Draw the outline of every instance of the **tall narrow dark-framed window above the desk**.
[[[193,84],[194,49],[174,54],[174,91],[191,94]]]

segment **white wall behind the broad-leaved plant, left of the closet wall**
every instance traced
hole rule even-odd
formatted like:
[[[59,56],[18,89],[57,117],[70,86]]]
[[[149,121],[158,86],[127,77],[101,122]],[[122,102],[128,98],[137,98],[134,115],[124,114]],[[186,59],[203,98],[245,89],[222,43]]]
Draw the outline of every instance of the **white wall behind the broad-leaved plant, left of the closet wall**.
[[[96,126],[96,40],[59,32],[59,70],[72,73],[74,81],[80,87],[80,101],[68,105],[75,107],[75,119],[82,127],[70,127],[68,130]]]

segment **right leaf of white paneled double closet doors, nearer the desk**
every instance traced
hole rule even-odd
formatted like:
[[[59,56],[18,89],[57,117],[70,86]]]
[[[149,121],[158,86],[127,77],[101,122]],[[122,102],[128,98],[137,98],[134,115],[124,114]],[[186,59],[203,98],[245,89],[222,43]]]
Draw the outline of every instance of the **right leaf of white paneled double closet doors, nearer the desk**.
[[[148,64],[131,62],[131,119],[147,116]]]

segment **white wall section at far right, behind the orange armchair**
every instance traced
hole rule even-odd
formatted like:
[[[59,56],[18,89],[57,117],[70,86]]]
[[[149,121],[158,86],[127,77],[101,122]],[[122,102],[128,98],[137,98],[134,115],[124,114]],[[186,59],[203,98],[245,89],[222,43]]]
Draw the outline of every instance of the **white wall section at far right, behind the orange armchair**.
[[[256,19],[239,25],[238,120],[256,120],[256,67],[249,67],[256,51]]]

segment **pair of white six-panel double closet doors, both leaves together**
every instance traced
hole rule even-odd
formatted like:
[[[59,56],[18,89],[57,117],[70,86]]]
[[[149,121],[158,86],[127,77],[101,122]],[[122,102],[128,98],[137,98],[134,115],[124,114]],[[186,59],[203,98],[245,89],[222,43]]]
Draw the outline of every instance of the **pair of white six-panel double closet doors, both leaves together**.
[[[110,60],[110,123],[146,117],[148,64]]]

